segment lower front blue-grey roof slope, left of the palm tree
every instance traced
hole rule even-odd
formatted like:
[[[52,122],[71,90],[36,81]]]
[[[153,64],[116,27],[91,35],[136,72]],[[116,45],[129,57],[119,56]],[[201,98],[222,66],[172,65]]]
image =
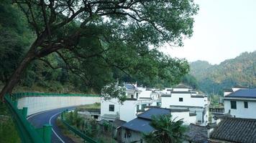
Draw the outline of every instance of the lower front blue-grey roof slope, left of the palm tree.
[[[143,132],[143,133],[150,133],[154,131],[155,129],[150,126],[150,120],[147,119],[132,119],[132,121],[127,122],[122,125],[122,127],[131,129],[136,132]]]

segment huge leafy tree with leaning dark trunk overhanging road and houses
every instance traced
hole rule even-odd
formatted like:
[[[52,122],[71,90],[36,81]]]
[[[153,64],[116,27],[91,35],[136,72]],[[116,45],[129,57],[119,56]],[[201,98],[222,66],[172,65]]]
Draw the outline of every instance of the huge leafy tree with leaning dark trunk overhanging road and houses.
[[[0,18],[9,24],[0,27],[10,26],[13,33],[0,33],[9,50],[0,55],[0,80],[6,83],[1,96],[17,83],[51,92],[100,93],[117,79],[170,87],[188,73],[185,59],[173,59],[158,47],[181,46],[192,35],[198,6],[191,0],[14,0],[1,9]]]

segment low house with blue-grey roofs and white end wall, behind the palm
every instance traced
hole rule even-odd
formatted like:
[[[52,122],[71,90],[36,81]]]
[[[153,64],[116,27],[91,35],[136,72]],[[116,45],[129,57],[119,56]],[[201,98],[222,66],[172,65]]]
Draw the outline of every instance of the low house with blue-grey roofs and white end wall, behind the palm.
[[[189,122],[196,122],[196,114],[190,114],[188,109],[164,109],[160,107],[151,107],[142,114],[138,114],[137,118],[122,124],[121,134],[119,134],[118,142],[145,142],[143,134],[153,132],[155,129],[151,127],[150,122],[152,116],[171,114],[172,119],[176,121],[183,119],[184,124],[189,125]],[[186,119],[186,120],[185,120]],[[190,120],[190,121],[189,121]]]

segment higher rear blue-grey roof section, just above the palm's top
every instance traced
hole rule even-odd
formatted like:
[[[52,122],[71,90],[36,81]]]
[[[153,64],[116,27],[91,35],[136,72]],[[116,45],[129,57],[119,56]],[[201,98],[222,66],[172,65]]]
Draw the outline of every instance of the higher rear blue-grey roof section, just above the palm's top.
[[[143,119],[151,119],[151,117],[154,116],[159,116],[163,114],[170,114],[170,109],[164,109],[164,108],[150,108],[147,111],[143,112],[142,114],[138,115],[138,118],[143,118]]]

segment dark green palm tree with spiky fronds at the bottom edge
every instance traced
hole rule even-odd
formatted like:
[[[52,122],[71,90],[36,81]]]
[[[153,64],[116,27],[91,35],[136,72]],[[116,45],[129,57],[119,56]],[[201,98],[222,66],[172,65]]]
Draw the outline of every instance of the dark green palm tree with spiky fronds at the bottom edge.
[[[149,143],[178,143],[183,141],[183,133],[186,132],[186,127],[183,126],[183,120],[172,119],[172,116],[161,115],[152,117],[150,124],[155,128],[155,131],[150,134],[145,134],[144,139]]]

